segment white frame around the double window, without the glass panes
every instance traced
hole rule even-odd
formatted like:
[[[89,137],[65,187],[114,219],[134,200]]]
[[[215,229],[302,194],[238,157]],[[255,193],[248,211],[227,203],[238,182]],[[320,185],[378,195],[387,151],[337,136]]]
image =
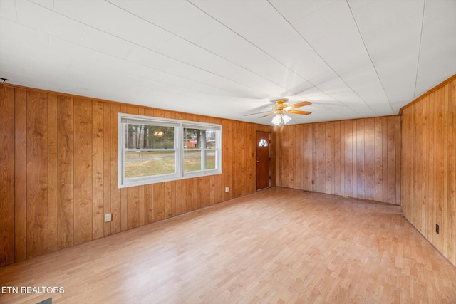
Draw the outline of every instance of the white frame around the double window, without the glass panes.
[[[148,177],[125,178],[125,128],[128,124],[134,125],[161,125],[174,127],[174,151],[175,151],[175,172],[173,174],[161,174]],[[214,130],[216,132],[215,168],[204,169],[192,172],[185,172],[184,169],[184,128]],[[197,149],[201,150],[201,149]],[[133,114],[118,114],[118,187],[133,187],[142,184],[155,184],[178,179],[203,177],[207,175],[222,174],[222,125],[209,124],[204,122],[192,122],[186,120],[173,120],[160,117],[150,117]]]

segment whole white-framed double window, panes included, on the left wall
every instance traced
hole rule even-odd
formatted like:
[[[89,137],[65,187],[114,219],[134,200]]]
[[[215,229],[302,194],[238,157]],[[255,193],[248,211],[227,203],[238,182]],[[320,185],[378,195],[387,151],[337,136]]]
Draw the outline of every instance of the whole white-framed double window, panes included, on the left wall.
[[[119,114],[119,187],[222,173],[222,126]]]

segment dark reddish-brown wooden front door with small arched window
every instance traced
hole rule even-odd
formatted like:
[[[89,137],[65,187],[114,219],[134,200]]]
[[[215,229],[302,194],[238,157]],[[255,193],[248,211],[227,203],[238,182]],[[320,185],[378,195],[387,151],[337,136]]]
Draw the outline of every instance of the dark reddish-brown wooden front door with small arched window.
[[[257,190],[271,187],[271,133],[257,131]]]

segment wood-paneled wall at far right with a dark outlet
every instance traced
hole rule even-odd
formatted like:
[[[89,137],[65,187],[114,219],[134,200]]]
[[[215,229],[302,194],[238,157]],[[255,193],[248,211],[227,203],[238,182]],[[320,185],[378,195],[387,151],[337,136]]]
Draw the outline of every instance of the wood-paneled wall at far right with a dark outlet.
[[[403,214],[456,266],[456,75],[401,111]]]

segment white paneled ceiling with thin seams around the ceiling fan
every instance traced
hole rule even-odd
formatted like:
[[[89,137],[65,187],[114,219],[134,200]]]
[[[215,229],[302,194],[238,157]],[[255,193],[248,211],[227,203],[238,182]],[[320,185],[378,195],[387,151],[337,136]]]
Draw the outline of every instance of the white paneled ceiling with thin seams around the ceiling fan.
[[[9,83],[290,124],[398,114],[456,73],[455,0],[0,0]]]

